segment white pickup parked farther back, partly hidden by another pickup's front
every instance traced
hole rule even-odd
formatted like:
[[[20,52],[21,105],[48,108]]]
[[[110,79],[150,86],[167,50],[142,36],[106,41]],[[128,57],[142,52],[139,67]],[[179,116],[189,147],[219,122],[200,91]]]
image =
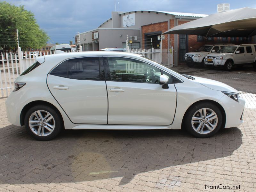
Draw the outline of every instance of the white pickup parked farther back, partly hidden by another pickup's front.
[[[204,57],[213,52],[218,52],[224,44],[212,44],[203,45],[195,52],[188,52],[184,56],[184,61],[187,63],[188,67],[193,67],[195,63],[204,64]]]

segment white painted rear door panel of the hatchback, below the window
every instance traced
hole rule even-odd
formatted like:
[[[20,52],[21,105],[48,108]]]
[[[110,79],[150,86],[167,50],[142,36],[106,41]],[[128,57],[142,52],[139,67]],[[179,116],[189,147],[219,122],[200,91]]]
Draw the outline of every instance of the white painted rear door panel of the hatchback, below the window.
[[[47,84],[73,123],[107,124],[108,97],[105,81],[78,80],[49,74]],[[56,86],[68,89],[54,89]]]

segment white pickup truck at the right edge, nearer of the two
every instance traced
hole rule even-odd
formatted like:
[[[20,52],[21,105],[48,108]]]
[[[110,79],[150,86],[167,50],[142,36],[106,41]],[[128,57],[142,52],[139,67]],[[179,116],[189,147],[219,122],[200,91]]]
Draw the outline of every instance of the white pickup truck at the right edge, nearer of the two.
[[[204,59],[205,66],[224,66],[228,71],[234,65],[244,64],[253,64],[256,68],[256,44],[225,46],[218,52],[207,54]]]

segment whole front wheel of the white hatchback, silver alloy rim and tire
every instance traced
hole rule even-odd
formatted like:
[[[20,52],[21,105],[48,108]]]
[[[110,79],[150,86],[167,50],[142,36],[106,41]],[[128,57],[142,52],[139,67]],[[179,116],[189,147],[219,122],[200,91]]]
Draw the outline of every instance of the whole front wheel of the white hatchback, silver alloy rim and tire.
[[[217,106],[203,102],[188,109],[184,123],[192,135],[198,138],[207,138],[220,130],[222,114]]]

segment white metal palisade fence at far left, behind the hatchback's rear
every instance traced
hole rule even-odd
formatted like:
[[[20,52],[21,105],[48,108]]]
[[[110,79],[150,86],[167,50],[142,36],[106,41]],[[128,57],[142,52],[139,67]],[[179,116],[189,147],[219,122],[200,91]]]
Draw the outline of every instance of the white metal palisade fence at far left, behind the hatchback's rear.
[[[7,97],[13,90],[15,79],[28,67],[36,62],[36,57],[48,54],[48,52],[37,52],[28,54],[21,52],[1,52],[0,53],[0,98]]]

